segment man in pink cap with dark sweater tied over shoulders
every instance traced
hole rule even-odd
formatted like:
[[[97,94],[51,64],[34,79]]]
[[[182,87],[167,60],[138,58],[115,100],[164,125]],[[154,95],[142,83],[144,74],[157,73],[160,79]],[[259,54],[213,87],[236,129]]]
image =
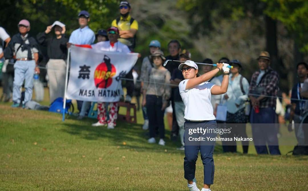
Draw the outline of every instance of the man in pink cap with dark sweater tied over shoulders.
[[[13,102],[12,107],[24,108],[26,103],[32,98],[33,75],[39,74],[39,46],[33,37],[30,37],[30,22],[26,19],[18,23],[19,33],[12,37],[8,47],[4,50],[6,59],[14,58],[14,83],[13,83]],[[25,80],[25,98],[21,103],[20,87]]]

